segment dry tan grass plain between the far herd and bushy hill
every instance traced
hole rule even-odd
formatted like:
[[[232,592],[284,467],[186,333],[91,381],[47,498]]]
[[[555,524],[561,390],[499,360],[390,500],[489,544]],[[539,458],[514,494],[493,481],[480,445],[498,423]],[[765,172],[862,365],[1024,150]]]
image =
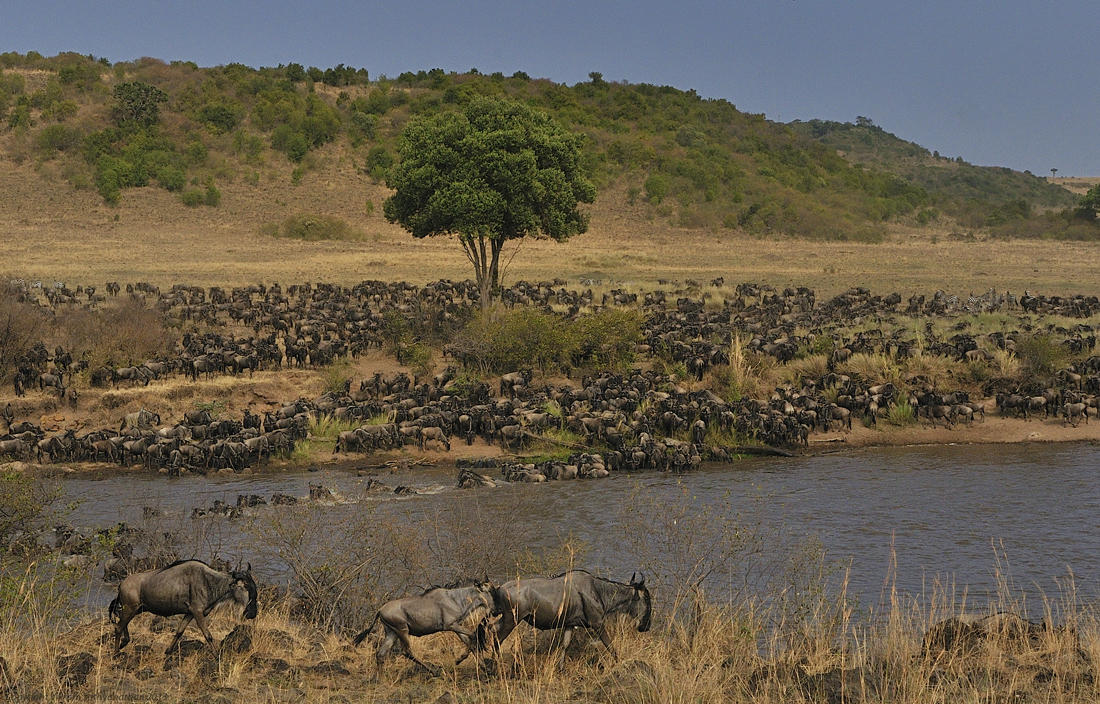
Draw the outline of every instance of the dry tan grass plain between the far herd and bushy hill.
[[[6,207],[0,258],[9,270],[43,279],[102,284],[239,285],[260,280],[352,283],[364,278],[466,278],[460,248],[446,239],[415,240],[388,224],[387,191],[361,174],[340,147],[320,152],[317,170],[292,185],[290,166],[260,167],[257,185],[219,182],[218,208],[186,208],[160,188],[128,190],[118,208],[92,190],[73,190],[25,163],[0,161]],[[366,202],[373,204],[367,213]],[[339,217],[366,242],[297,242],[258,233],[265,222],[316,212]],[[531,241],[506,272],[508,280],[561,277],[653,287],[658,278],[756,280],[803,285],[831,295],[850,286],[902,295],[937,288],[990,287],[1044,293],[1100,293],[1093,262],[1100,245],[1075,242],[972,241],[949,231],[894,229],[882,244],[755,239],[733,231],[673,228],[627,204],[625,188],[606,188],[586,234],[561,245]],[[507,255],[507,252],[506,252]]]

